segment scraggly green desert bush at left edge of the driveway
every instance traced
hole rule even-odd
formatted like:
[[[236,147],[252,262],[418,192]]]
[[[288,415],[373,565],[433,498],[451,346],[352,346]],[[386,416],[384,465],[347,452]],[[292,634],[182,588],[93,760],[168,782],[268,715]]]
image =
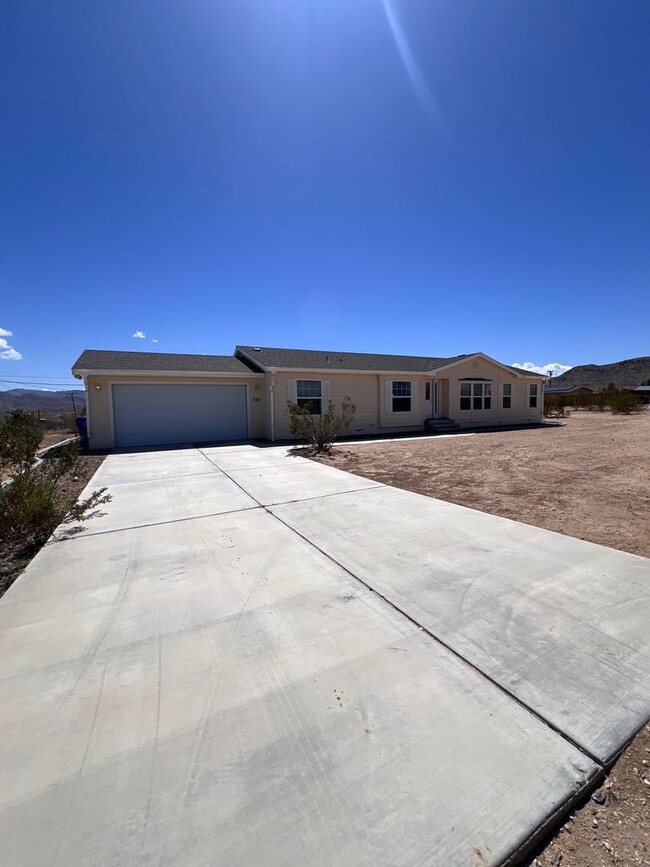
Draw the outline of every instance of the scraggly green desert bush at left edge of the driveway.
[[[66,483],[83,474],[77,442],[36,461],[38,421],[20,410],[0,424],[0,468],[9,479],[0,489],[0,541],[30,548],[45,542],[61,523],[85,521],[108,503],[106,488],[78,500]]]

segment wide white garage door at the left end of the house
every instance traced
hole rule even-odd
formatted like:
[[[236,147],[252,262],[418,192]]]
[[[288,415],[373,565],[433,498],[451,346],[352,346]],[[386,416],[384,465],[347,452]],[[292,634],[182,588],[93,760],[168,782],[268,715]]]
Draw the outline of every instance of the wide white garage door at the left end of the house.
[[[246,439],[245,385],[114,385],[116,446]]]

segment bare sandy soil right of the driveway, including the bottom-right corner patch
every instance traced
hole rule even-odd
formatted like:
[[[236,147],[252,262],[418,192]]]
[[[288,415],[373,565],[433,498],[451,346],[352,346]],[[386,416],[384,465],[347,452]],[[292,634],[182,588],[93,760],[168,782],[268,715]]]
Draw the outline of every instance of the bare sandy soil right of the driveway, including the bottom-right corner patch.
[[[342,443],[324,463],[650,557],[650,410],[577,412],[563,426]],[[650,625],[648,627],[650,629]],[[535,867],[650,865],[650,726],[595,797],[528,858]]]

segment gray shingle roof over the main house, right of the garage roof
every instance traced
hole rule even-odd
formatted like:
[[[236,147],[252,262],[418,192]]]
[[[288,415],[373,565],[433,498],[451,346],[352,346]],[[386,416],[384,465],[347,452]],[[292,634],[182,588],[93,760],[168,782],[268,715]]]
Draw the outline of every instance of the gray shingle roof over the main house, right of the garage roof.
[[[316,349],[273,349],[268,346],[238,346],[235,352],[246,353],[250,359],[264,367],[296,370],[403,370],[412,373],[426,373],[465,357],[374,355],[366,352],[329,352]]]

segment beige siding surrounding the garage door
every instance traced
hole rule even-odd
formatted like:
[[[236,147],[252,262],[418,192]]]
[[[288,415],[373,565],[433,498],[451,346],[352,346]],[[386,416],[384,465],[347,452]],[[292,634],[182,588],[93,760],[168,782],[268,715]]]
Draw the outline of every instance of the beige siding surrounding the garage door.
[[[247,386],[248,435],[251,439],[266,436],[263,377],[207,377],[207,376],[88,376],[86,378],[86,406],[88,435],[91,449],[111,449],[115,445],[111,417],[111,386],[113,383],[161,383],[168,385],[245,385]]]

